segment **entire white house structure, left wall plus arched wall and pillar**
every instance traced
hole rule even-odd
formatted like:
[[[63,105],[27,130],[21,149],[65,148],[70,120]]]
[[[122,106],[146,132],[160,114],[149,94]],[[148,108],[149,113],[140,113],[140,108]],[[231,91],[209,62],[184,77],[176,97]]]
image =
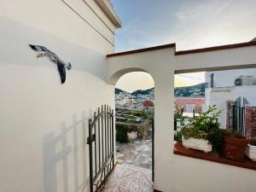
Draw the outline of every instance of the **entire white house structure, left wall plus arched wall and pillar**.
[[[108,0],[1,1],[0,191],[89,191],[88,120],[114,108],[125,73],[149,73],[154,90],[154,189],[254,191],[255,171],[173,153],[174,74],[256,67],[256,43],[176,51],[175,44],[113,54],[121,26]],[[70,61],[55,63],[28,44]],[[214,179],[212,179],[214,178]]]

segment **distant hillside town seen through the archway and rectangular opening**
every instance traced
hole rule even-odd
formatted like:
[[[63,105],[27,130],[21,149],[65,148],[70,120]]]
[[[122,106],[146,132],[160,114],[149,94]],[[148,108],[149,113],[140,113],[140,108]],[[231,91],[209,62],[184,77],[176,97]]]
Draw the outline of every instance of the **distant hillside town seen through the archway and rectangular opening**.
[[[177,87],[174,90],[175,102],[178,108],[184,108],[184,112],[192,113],[201,111],[205,104],[205,84],[195,84],[193,86]],[[139,117],[129,116],[125,111],[145,111],[150,113],[154,108],[154,88],[148,90],[136,90],[129,93],[125,90],[115,89],[116,120],[136,119]]]

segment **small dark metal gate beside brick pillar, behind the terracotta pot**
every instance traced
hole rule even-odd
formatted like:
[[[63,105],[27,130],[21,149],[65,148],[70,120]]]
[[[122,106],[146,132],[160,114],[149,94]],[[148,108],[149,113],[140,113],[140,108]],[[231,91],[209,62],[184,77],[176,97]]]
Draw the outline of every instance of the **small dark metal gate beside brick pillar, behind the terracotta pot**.
[[[245,97],[236,98],[233,106],[233,129],[246,134],[246,106],[250,105]]]

